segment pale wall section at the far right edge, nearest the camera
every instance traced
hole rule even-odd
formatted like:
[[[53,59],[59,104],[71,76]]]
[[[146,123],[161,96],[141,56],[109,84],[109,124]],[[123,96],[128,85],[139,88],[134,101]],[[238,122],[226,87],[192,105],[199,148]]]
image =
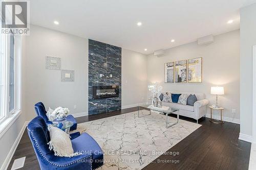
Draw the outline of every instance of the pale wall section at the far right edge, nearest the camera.
[[[256,45],[256,4],[240,10],[240,133],[252,135],[252,46]]]

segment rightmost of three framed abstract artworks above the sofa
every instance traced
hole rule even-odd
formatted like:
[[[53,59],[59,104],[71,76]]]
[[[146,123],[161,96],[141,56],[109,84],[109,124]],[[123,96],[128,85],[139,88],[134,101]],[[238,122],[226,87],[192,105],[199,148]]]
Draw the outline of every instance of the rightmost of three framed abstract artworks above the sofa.
[[[202,57],[188,59],[188,83],[202,82]]]

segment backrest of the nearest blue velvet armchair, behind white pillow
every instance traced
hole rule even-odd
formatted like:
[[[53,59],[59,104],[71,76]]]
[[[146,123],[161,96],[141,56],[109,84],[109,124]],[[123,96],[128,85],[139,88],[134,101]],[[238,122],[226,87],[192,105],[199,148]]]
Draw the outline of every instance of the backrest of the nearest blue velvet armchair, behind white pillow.
[[[47,144],[50,141],[50,134],[45,120],[42,119],[42,117],[37,116],[31,120],[27,129],[37,159],[41,166],[42,164],[46,163],[46,160],[42,157],[42,155],[54,155],[54,152],[49,150],[49,145]]]

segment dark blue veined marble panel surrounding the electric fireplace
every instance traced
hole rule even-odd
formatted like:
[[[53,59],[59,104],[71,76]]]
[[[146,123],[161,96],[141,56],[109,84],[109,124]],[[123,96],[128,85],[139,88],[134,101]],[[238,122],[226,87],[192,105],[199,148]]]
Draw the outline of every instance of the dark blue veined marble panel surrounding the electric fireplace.
[[[111,77],[112,75],[112,77]],[[93,99],[92,86],[119,86],[119,97]],[[121,48],[89,39],[89,115],[121,109]]]

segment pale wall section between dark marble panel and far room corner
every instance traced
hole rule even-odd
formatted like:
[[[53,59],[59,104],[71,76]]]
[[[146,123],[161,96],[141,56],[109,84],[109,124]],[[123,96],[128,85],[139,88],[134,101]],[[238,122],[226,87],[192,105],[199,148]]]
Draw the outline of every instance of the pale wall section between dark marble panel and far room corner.
[[[122,108],[146,102],[147,57],[122,48]]]

